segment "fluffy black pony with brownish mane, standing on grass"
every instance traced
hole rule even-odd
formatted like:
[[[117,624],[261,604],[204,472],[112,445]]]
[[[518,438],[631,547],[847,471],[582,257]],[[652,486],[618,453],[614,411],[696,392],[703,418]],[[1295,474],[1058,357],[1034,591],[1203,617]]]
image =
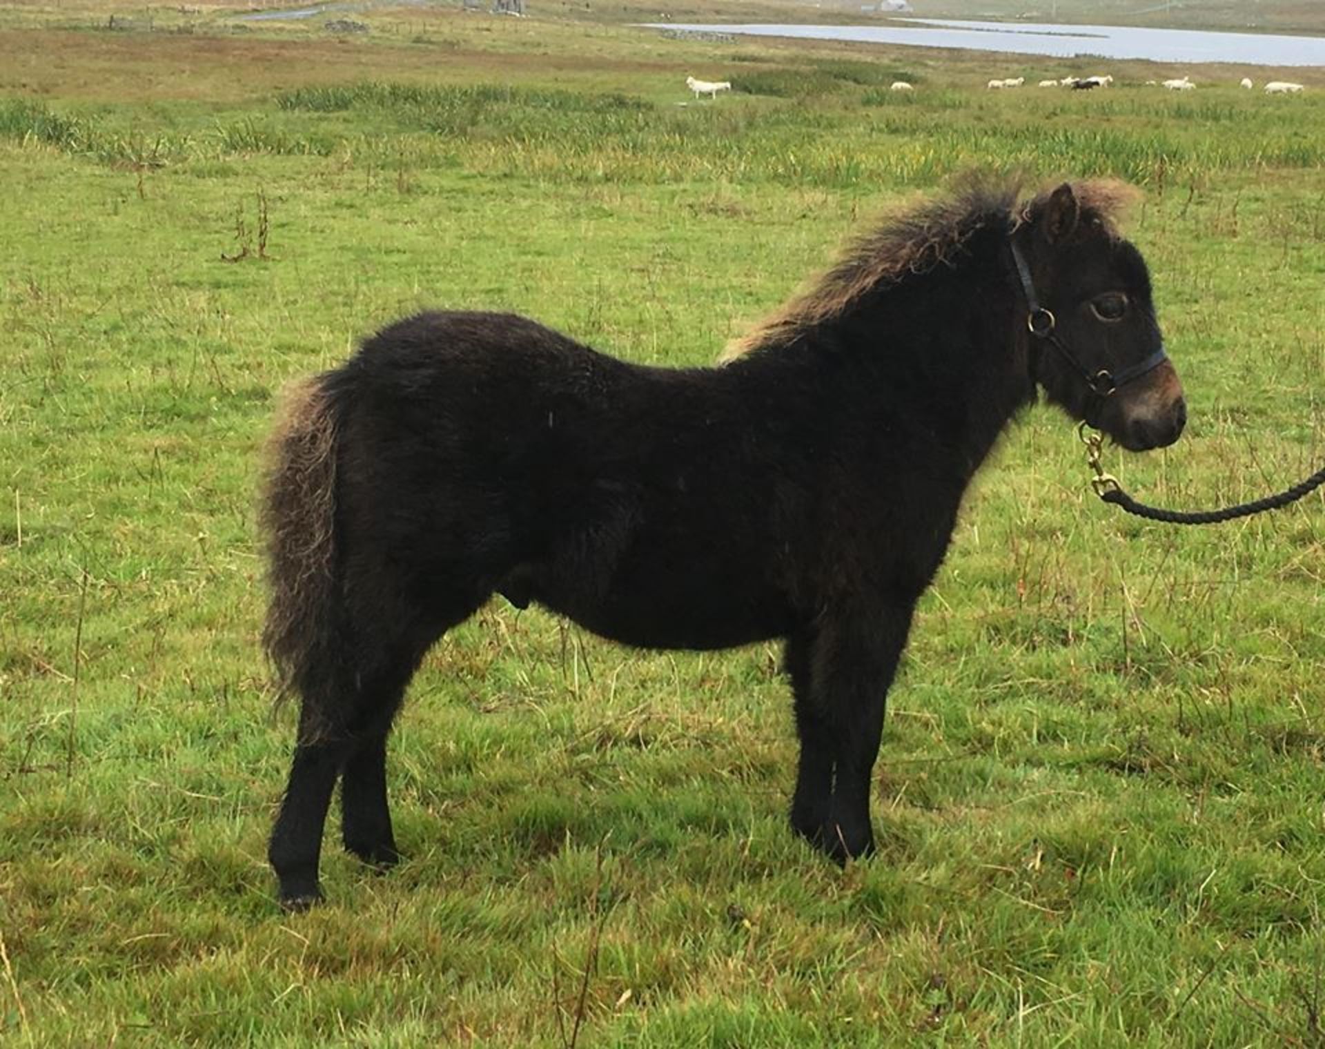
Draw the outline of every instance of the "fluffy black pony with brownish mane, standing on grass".
[[[1113,224],[1124,196],[977,185],[920,208],[717,368],[428,313],[295,387],[264,513],[264,640],[302,701],[269,852],[281,902],[321,897],[338,777],[346,848],[399,858],[392,718],[429,645],[494,592],[628,645],[784,638],[791,825],[839,861],[868,853],[912,612],[1008,420],[1039,387],[1133,450],[1182,430],[1146,266]]]

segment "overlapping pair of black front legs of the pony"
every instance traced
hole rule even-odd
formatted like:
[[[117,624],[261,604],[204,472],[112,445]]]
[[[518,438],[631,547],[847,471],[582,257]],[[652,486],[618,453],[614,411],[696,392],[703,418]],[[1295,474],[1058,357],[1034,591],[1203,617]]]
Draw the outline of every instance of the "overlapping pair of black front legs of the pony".
[[[800,735],[791,824],[837,862],[874,848],[872,774],[912,608],[829,615],[812,640],[787,645]]]

